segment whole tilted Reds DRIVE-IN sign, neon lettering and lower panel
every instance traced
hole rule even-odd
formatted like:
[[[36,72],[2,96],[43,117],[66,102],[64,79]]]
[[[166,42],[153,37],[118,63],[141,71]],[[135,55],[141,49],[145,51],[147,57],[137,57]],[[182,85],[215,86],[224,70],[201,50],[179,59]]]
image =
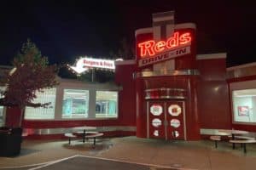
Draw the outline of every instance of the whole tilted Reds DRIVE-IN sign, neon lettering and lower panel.
[[[192,37],[190,32],[174,32],[172,37],[166,41],[155,42],[149,40],[138,43],[139,55],[138,65],[150,65],[161,60],[172,59],[184,54],[190,54]]]

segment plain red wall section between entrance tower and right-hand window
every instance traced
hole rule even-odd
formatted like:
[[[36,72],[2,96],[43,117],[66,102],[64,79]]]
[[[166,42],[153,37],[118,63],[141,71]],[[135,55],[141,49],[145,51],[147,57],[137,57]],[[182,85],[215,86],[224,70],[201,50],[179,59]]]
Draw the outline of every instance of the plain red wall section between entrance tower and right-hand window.
[[[229,89],[225,59],[199,59],[198,112],[201,128],[230,128]]]

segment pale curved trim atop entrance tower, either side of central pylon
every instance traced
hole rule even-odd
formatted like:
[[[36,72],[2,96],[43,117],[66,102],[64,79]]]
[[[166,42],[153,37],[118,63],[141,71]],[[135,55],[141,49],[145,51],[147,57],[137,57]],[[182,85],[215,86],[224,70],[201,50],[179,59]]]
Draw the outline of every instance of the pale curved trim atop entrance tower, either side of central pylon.
[[[183,23],[183,24],[174,25],[174,29],[185,29],[185,28],[196,29],[196,26],[194,23]],[[140,34],[146,34],[146,33],[152,33],[152,32],[153,32],[152,27],[140,28],[135,31],[135,37],[137,37],[137,35],[140,35]]]

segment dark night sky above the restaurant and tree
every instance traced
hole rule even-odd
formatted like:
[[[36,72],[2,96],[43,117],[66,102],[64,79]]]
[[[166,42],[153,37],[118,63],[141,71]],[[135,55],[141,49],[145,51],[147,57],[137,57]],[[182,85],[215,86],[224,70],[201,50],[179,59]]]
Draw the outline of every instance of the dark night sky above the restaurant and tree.
[[[73,64],[80,55],[110,58],[134,31],[152,26],[151,14],[175,10],[175,22],[197,26],[197,54],[227,53],[227,65],[256,61],[256,10],[240,1],[26,1],[0,4],[0,65],[29,37],[50,63]],[[250,1],[248,1],[250,2]]]

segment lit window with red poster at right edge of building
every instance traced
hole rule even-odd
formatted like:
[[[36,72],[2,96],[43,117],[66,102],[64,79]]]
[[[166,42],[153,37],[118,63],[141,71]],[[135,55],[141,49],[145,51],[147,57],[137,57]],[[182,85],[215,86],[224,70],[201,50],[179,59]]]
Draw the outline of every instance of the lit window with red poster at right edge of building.
[[[256,88],[234,90],[232,99],[234,122],[256,122]]]

